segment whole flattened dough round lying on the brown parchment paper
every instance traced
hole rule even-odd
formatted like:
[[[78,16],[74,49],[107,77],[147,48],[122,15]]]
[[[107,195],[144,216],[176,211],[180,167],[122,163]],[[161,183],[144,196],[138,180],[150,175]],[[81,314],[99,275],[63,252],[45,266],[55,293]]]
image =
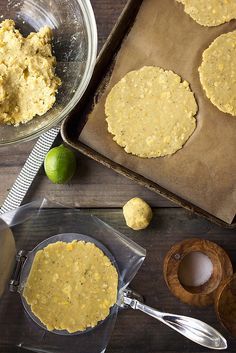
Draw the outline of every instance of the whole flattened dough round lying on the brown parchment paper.
[[[112,88],[105,104],[113,140],[143,158],[178,151],[196,127],[196,112],[188,82],[153,66],[129,72]]]

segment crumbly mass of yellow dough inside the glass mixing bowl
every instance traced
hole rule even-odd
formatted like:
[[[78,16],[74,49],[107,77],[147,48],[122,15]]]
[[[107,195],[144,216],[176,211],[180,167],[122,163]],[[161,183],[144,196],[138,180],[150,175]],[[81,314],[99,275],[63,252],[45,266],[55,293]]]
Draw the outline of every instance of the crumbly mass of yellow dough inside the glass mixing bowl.
[[[0,123],[17,126],[53,106],[61,80],[49,27],[24,38],[14,21],[0,26]]]

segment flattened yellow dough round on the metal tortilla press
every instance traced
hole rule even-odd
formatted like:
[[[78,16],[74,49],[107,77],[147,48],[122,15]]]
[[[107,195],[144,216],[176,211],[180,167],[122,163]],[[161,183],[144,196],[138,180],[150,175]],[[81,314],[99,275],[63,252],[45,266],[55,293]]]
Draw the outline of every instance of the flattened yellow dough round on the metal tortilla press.
[[[48,330],[73,333],[109,315],[117,288],[117,271],[97,246],[59,241],[36,253],[23,296]]]

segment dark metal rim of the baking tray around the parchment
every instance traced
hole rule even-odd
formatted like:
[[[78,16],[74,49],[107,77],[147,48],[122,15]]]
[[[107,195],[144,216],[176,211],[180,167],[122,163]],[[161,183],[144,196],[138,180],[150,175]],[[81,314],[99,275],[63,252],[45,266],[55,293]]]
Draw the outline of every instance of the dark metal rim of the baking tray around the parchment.
[[[92,79],[84,96],[74,111],[64,120],[62,124],[62,138],[67,144],[83,153],[84,155],[96,160],[108,168],[113,169],[117,173],[136,181],[138,184],[147,187],[151,191],[154,191],[157,194],[167,198],[178,206],[185,208],[192,214],[202,216],[209,221],[226,228],[236,228],[235,218],[231,224],[228,224],[206,212],[205,210],[177,196],[176,194],[170,192],[169,190],[161,187],[157,183],[154,183],[144,178],[143,176],[123,167],[122,165],[104,157],[100,153],[79,141],[79,135],[86,123],[87,116],[89,112],[92,111],[94,104],[98,101],[104,90],[104,87],[109,81],[116,54],[119,51],[122,41],[132,27],[142,1],[143,0],[129,0],[127,2],[123,12],[121,13],[116,25],[114,26],[97,58]]]

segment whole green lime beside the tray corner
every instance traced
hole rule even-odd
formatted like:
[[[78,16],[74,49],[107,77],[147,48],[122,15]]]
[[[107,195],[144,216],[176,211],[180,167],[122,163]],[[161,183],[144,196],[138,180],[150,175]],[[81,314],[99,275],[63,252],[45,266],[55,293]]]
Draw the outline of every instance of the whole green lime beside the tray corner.
[[[67,183],[76,170],[74,152],[64,145],[52,148],[45,157],[44,169],[47,177],[54,184]]]

